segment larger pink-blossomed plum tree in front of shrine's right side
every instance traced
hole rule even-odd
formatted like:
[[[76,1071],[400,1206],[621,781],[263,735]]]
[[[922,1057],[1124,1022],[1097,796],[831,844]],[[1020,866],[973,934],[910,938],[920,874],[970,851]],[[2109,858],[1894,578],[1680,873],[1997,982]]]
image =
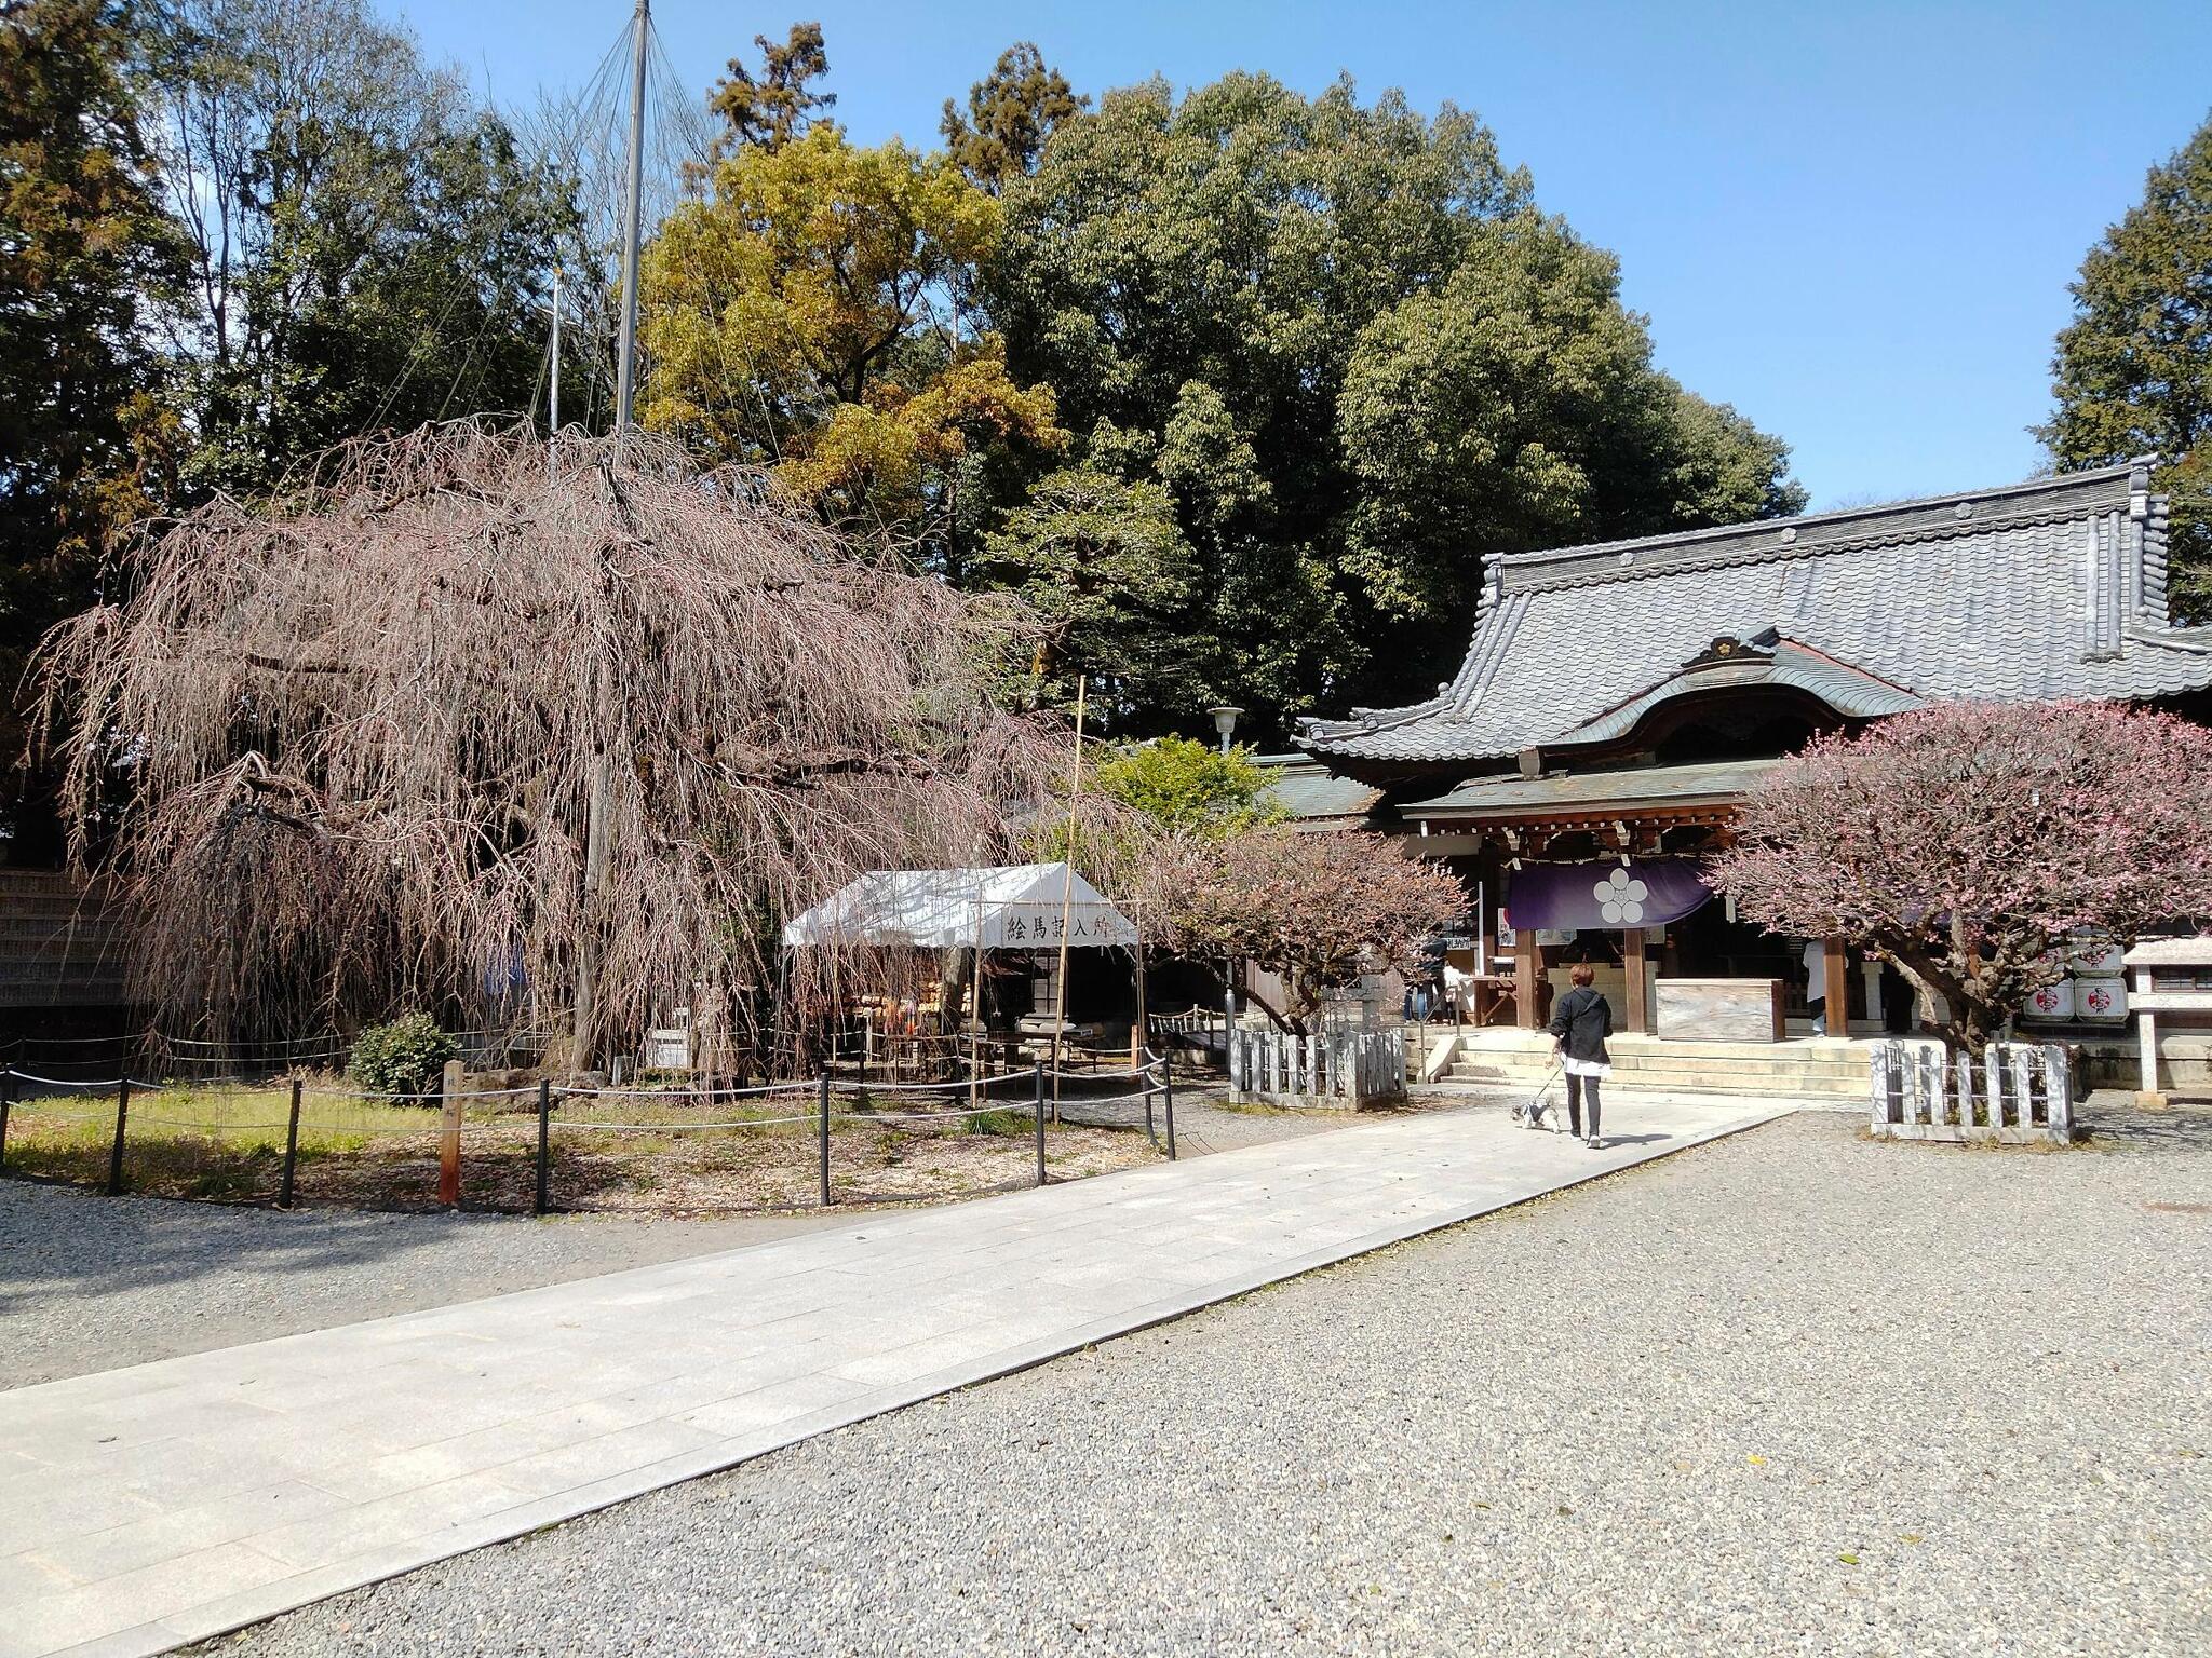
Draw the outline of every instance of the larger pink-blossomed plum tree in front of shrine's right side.
[[[1980,1054],[2070,935],[2212,915],[2212,732],[2115,703],[1898,714],[1772,772],[1710,878],[1754,922],[1893,962]]]

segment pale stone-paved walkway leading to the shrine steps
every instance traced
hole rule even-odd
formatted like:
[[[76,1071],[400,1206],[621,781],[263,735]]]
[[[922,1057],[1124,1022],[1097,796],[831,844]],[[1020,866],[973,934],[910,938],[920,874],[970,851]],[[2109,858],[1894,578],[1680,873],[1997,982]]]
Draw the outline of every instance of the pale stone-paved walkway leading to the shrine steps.
[[[161,1651],[1790,1110],[1358,1123],[0,1393],[0,1658]]]

